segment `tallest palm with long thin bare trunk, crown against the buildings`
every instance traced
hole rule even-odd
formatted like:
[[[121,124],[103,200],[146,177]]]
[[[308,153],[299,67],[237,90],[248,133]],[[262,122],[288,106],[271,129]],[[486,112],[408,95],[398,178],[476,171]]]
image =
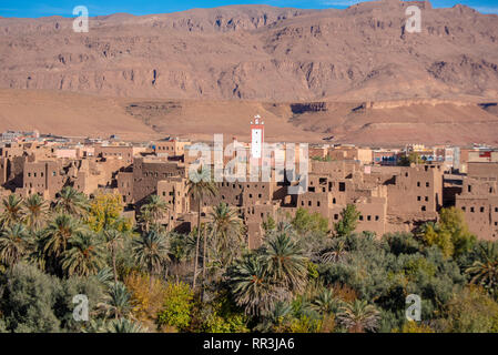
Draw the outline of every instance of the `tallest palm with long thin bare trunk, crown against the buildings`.
[[[217,192],[217,187],[211,179],[211,172],[207,169],[199,166],[196,173],[190,176],[189,180],[189,194],[197,201],[197,241],[195,246],[195,261],[194,261],[194,280],[192,288],[195,290],[199,268],[199,244],[201,241],[201,207],[204,197],[214,196]]]

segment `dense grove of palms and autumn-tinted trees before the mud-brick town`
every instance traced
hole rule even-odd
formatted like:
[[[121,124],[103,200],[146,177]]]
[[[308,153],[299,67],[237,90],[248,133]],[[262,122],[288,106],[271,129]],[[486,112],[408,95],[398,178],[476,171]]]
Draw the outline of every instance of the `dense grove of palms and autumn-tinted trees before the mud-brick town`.
[[[190,193],[201,212],[216,187],[191,181]],[[1,332],[498,331],[498,244],[477,241],[453,207],[382,237],[355,232],[354,205],[332,230],[298,209],[268,217],[250,251],[226,204],[199,213],[190,234],[161,223],[171,210],[156,195],[135,225],[122,205],[70,186],[52,203],[3,200]],[[88,322],[73,320],[77,294],[89,298]],[[420,322],[406,320],[409,294],[421,297]]]

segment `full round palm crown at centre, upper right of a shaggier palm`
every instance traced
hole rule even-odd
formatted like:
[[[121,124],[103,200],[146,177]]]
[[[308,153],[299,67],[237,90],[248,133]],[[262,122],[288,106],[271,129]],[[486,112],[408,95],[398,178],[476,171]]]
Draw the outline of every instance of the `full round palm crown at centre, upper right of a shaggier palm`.
[[[307,258],[301,246],[287,234],[271,236],[262,255],[268,276],[292,292],[301,292],[306,285]]]

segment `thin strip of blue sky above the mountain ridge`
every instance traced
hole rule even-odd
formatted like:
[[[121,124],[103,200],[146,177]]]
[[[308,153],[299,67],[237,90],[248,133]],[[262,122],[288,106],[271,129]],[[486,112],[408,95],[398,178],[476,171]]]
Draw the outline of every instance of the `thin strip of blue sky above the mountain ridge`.
[[[345,8],[362,0],[1,0],[1,17],[39,18],[45,16],[72,17],[72,9],[83,4],[90,16],[103,16],[115,12],[133,14],[164,13],[192,8],[214,8],[227,4],[265,3],[275,7],[302,9]],[[484,13],[498,13],[498,0],[433,0],[433,7],[447,8],[456,3],[467,4]]]

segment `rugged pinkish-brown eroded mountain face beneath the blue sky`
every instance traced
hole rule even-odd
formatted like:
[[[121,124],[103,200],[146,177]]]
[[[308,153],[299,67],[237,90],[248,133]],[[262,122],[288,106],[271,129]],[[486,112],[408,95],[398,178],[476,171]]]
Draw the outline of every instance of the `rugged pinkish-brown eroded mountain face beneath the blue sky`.
[[[60,17],[1,18],[0,88],[286,102],[497,98],[498,17],[417,2],[423,32],[407,33],[409,4],[114,14],[91,18],[89,33]]]

